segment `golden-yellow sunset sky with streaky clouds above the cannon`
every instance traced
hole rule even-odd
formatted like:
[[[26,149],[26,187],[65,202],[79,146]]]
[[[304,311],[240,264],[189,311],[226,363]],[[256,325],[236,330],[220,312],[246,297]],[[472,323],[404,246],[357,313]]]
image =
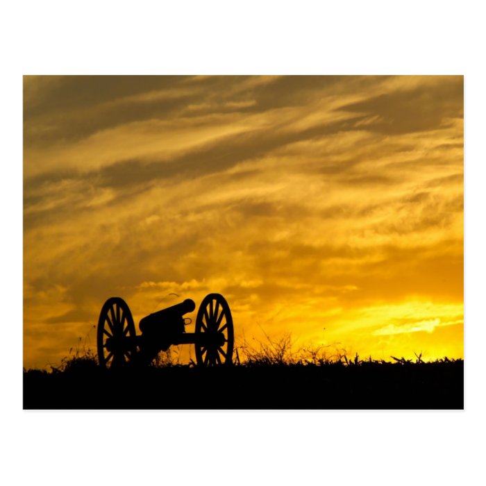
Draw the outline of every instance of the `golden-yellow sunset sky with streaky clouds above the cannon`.
[[[462,76],[24,76],[24,366],[210,292],[237,346],[462,358],[463,128]]]

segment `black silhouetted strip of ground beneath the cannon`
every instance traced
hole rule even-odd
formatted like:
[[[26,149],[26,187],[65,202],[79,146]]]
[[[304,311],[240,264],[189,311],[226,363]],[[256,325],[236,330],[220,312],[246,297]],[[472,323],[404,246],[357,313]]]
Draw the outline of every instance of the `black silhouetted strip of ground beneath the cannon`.
[[[24,409],[462,409],[464,362],[24,371]]]

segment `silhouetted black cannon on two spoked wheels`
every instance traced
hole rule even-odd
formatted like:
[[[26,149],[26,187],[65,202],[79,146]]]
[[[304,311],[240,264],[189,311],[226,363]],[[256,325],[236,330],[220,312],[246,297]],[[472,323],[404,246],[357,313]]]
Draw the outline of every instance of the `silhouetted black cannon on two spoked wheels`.
[[[170,346],[194,344],[196,364],[230,365],[233,358],[233,318],[221,294],[208,294],[196,316],[194,333],[185,332],[185,318],[196,304],[192,299],[153,312],[140,319],[137,335],[130,308],[120,297],[110,297],[99,315],[98,361],[102,368],[128,364],[147,366]]]

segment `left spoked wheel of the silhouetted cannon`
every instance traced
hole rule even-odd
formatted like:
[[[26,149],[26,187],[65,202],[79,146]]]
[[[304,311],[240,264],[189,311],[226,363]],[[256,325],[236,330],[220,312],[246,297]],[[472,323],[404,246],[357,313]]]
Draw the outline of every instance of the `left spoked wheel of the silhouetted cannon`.
[[[101,308],[98,321],[98,362],[102,368],[121,367],[136,353],[135,324],[127,303],[111,297]],[[129,339],[127,339],[129,338]],[[112,346],[107,342],[112,342]]]

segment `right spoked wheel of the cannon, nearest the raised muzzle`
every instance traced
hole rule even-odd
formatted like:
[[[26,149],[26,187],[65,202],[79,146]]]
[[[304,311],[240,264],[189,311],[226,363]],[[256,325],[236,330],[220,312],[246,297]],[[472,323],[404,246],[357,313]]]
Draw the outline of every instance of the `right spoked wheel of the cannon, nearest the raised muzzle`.
[[[208,333],[215,337],[207,346],[196,340],[196,363],[202,366],[232,364],[233,358],[233,317],[228,303],[221,294],[204,297],[196,317],[196,335]],[[208,336],[209,337],[209,336]],[[224,337],[224,340],[223,340]],[[219,343],[223,343],[220,345]]]

